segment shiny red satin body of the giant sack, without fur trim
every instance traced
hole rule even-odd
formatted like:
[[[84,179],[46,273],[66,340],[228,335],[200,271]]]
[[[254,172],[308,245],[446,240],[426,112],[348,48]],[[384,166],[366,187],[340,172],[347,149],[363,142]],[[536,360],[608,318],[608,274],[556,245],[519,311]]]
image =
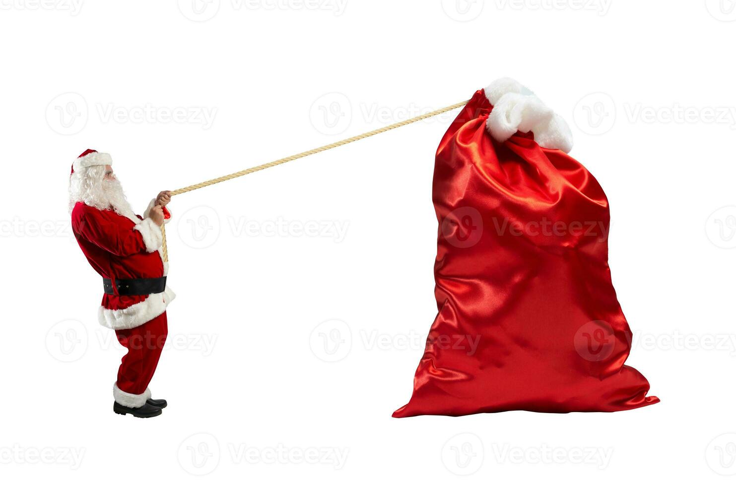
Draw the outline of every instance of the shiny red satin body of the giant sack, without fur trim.
[[[531,133],[493,140],[491,110],[479,90],[437,150],[439,313],[394,417],[657,403],[624,365],[631,331],[611,282],[604,191]]]

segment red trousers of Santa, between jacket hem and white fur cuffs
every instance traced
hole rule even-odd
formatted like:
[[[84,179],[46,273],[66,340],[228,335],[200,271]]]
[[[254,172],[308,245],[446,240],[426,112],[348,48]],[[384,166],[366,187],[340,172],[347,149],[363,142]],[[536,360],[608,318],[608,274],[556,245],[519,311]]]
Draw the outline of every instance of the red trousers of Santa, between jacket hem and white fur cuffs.
[[[166,312],[132,329],[118,329],[118,341],[127,348],[118,369],[118,388],[125,393],[146,392],[166,343]]]

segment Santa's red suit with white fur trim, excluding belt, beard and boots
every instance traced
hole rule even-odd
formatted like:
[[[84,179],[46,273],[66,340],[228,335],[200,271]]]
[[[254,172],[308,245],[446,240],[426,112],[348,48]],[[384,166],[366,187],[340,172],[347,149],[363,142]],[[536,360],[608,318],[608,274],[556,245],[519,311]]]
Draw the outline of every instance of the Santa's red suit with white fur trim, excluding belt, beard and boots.
[[[103,157],[110,157],[107,154],[85,154],[77,161],[92,156],[95,162],[112,162]],[[74,169],[88,166],[83,163],[75,162]],[[148,217],[153,205],[154,201],[143,218],[125,210],[118,214],[113,207],[99,210],[82,201],[71,211],[71,227],[79,248],[92,268],[112,283],[113,293],[102,297],[98,318],[99,324],[115,330],[118,341],[128,349],[113,386],[115,400],[126,407],[142,407],[151,398],[148,385],[166,341],[166,306],[174,299],[168,286],[161,293],[149,295],[119,295],[117,290],[116,281],[120,279],[158,279],[167,274],[168,263],[163,262],[161,253],[161,230]],[[166,210],[164,217],[165,221],[171,217]]]

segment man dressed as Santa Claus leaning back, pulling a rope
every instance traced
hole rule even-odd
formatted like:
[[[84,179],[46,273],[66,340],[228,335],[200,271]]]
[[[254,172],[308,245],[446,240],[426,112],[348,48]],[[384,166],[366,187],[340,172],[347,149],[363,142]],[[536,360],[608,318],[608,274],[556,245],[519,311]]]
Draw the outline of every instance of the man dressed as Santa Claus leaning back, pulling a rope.
[[[143,217],[130,207],[112,168],[110,154],[84,151],[71,167],[71,227],[92,268],[102,276],[105,295],[99,323],[113,329],[127,348],[113,385],[113,411],[135,417],[161,415],[166,400],[151,398],[148,385],[166,341],[166,287],[161,225],[171,193],[162,191]]]

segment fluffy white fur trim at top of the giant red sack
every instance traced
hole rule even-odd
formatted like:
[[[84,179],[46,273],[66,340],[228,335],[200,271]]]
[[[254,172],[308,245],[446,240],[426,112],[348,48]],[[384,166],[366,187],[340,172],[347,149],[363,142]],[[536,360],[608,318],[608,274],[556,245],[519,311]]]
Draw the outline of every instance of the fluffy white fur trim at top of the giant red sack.
[[[534,141],[545,149],[573,149],[573,132],[565,120],[520,82],[496,79],[484,91],[493,105],[486,129],[495,140],[505,142],[516,132],[532,132]]]

